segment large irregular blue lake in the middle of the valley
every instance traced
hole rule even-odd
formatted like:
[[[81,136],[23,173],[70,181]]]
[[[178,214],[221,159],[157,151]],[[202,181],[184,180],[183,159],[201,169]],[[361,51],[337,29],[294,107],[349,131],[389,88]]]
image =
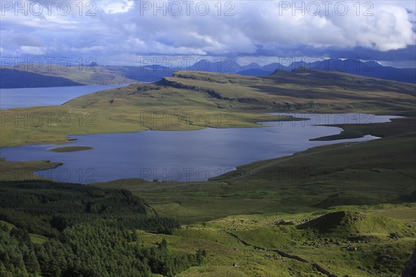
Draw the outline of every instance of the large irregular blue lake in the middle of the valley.
[[[55,153],[47,151],[55,145],[28,145],[1,148],[0,156],[15,161],[64,162],[56,169],[36,172],[39,176],[64,182],[94,183],[120,178],[206,181],[239,165],[291,155],[313,146],[376,139],[366,135],[354,140],[311,142],[312,138],[341,131],[315,124],[367,124],[395,118],[362,114],[296,115],[310,120],[265,122],[263,124],[270,125],[266,128],[74,135],[71,137],[77,139],[75,142],[60,146],[92,146],[94,149]]]

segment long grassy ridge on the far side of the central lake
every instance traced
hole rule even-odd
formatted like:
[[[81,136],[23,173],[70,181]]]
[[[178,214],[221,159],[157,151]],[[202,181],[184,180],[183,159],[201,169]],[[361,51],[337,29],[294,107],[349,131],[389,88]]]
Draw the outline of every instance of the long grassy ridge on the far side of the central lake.
[[[308,82],[308,80],[310,82]],[[415,85],[336,72],[275,72],[263,78],[177,72],[78,97],[62,106],[0,110],[0,146],[62,144],[67,135],[257,126],[263,112],[414,115]]]

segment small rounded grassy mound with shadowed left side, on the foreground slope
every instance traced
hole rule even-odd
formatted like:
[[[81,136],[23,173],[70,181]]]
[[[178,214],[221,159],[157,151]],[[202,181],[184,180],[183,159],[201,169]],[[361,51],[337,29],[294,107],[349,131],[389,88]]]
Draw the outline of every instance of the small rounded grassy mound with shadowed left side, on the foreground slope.
[[[297,226],[300,229],[314,229],[321,234],[337,237],[351,237],[364,234],[385,234],[412,232],[403,222],[382,216],[365,215],[362,212],[331,212]]]

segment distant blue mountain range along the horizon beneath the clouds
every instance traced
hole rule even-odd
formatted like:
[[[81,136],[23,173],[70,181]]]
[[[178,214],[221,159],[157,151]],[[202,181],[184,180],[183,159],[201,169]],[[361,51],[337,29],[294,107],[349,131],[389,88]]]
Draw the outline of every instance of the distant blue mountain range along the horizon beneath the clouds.
[[[241,66],[229,59],[222,62],[198,60],[191,67],[180,70],[241,74],[245,76],[266,76],[276,70],[291,72],[294,69],[315,69],[327,72],[343,72],[359,76],[381,78],[404,83],[416,83],[416,69],[385,67],[374,61],[328,59],[315,62],[293,62],[281,65],[278,62],[260,66],[257,63]],[[108,85],[137,82],[156,82],[172,76],[175,70],[161,65],[103,66],[85,65],[71,67],[65,71],[53,67],[37,71],[21,70],[14,67],[1,67],[0,88],[17,87],[56,87],[71,85]]]

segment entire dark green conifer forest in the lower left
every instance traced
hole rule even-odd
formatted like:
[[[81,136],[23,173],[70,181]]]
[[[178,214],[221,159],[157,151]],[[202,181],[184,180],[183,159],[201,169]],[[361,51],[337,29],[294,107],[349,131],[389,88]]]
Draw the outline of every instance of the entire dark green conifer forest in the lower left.
[[[0,276],[174,276],[200,265],[205,251],[148,247],[135,229],[171,233],[179,225],[159,217],[124,190],[51,182],[0,183]],[[45,235],[33,244],[29,233]]]

